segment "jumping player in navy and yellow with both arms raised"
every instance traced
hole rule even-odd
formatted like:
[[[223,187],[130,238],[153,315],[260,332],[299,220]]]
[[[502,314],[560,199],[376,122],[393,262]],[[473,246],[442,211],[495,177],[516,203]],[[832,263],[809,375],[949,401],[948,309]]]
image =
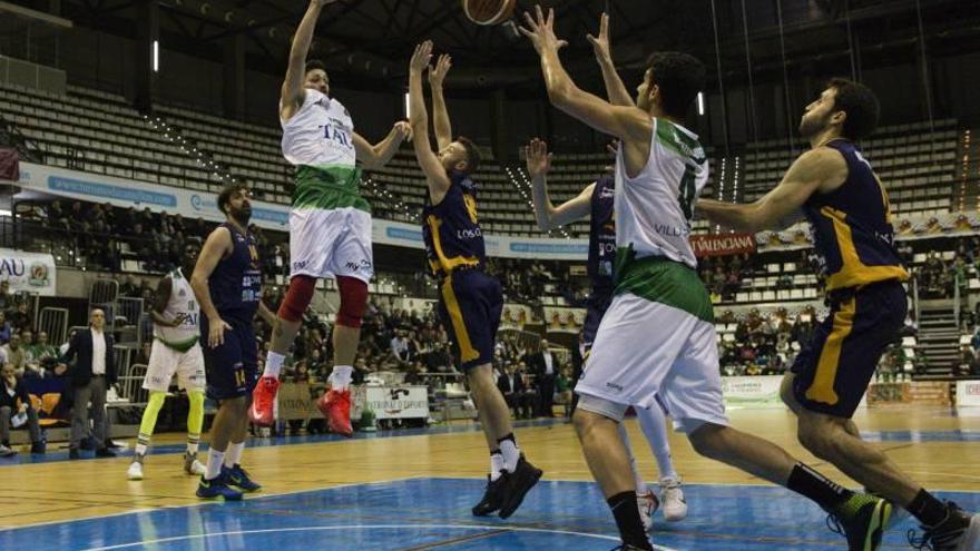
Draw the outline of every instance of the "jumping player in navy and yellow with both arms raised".
[[[484,272],[483,233],[477,218],[477,187],[471,175],[480,155],[465,138],[452,140],[442,82],[449,56],[429,71],[433,126],[439,151],[429,145],[429,116],[422,96],[422,73],[432,58],[432,42],[415,48],[409,71],[410,122],[419,166],[429,185],[422,211],[429,268],[439,281],[439,313],[452,340],[457,361],[467,375],[490,447],[490,475],[473,514],[513,514],[541,471],[521,454],[513,435],[510,410],[493,380],[491,361],[503,307],[500,283]]]

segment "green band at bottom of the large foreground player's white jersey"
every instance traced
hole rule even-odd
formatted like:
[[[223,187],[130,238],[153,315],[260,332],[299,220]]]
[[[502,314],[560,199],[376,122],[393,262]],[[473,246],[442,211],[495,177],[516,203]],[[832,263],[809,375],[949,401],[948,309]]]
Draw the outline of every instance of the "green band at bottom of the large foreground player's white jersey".
[[[636,257],[633,246],[616,250],[616,294],[633,293],[714,323],[712,298],[697,272],[660,256]]]

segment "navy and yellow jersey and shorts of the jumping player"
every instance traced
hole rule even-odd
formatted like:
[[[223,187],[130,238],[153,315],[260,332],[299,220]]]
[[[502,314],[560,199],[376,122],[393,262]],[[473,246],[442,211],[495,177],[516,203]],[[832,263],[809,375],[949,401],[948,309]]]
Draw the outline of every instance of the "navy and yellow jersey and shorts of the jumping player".
[[[477,185],[462,173],[449,176],[442,200],[422,210],[422,237],[429,268],[439,281],[439,315],[460,366],[468,370],[493,358],[503,292],[483,272],[487,249],[477,218]]]

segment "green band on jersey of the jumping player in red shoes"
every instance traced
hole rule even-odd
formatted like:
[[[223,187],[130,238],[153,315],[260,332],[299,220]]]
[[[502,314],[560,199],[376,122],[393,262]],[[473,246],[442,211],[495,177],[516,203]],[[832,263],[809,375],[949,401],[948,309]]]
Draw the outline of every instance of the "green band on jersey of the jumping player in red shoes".
[[[335,165],[296,167],[292,207],[323,210],[354,207],[371,211],[371,204],[361,196],[361,169]]]

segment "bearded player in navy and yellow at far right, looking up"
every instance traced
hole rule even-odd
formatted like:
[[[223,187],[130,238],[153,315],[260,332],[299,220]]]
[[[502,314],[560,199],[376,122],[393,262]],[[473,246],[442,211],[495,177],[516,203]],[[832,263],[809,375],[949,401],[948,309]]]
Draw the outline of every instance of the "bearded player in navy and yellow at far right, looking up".
[[[864,443],[851,421],[908,314],[902,282],[909,274],[895,250],[888,193],[855,142],[874,130],[878,115],[869,88],[831,80],[800,122],[812,148],[778,186],[752,204],[700,200],[697,208],[714,222],[751,232],[805,216],[823,258],[831,312],[783,382],[783,400],[798,416],[800,442],[919,519],[924,534],[913,545],[976,550],[980,515],[971,518],[927,492]]]

